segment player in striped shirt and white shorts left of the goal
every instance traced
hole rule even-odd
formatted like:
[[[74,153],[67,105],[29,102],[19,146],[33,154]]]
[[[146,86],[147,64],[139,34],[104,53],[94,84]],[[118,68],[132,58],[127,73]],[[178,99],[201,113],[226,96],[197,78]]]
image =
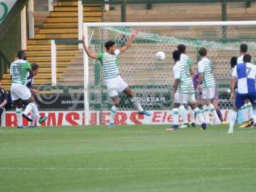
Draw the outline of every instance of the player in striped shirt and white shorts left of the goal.
[[[34,99],[31,97],[31,92],[26,86],[28,79],[34,76],[30,63],[26,61],[26,52],[22,50],[19,51],[18,58],[19,59],[14,61],[10,66],[10,74],[12,80],[11,97],[12,101],[16,105],[18,128],[23,128],[24,126],[22,125],[22,116],[29,122],[33,121],[28,115],[30,112],[38,116],[38,122],[40,124],[44,122],[47,117],[40,117],[38,109],[34,104]],[[28,72],[29,77],[27,77]],[[24,113],[22,113],[22,100],[28,103]]]

